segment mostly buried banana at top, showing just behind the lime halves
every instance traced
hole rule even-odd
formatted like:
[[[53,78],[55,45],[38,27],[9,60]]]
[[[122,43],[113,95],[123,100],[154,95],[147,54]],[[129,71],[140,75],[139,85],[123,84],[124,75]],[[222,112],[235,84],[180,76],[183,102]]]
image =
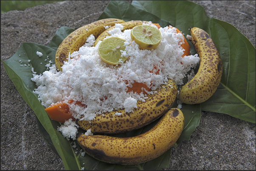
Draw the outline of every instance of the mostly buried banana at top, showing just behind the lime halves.
[[[128,29],[132,29],[137,25],[142,25],[144,21],[141,20],[133,20],[133,21],[127,21],[127,22],[122,22],[121,25],[124,26],[123,30],[128,30]],[[96,46],[98,41],[102,41],[106,36],[110,36],[110,34],[108,33],[110,30],[114,29],[115,25],[108,28],[107,30],[105,30],[103,33],[101,33],[98,38],[95,40],[94,45]]]

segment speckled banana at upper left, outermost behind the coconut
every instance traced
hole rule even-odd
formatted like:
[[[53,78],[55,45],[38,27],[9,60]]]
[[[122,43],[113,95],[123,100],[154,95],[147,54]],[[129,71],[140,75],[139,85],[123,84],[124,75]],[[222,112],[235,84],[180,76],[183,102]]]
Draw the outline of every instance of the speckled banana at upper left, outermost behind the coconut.
[[[55,65],[62,71],[64,61],[67,61],[68,54],[78,51],[84,45],[88,36],[93,34],[97,38],[106,29],[104,26],[113,26],[115,23],[122,23],[124,20],[107,18],[84,25],[69,34],[59,45],[55,55]]]

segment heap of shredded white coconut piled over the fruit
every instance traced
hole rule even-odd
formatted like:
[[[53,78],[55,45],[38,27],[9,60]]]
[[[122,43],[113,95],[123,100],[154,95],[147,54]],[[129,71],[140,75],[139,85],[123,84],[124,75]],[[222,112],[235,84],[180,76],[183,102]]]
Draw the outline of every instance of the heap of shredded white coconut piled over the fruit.
[[[152,24],[149,22],[149,25]],[[88,121],[96,114],[114,109],[124,108],[125,112],[132,112],[137,107],[137,101],[145,101],[146,95],[127,93],[127,86],[141,82],[153,90],[148,92],[152,94],[168,78],[173,79],[176,85],[183,84],[186,73],[200,61],[197,54],[182,58],[180,40],[183,35],[177,33],[175,28],[159,29],[162,40],[155,50],[140,50],[138,44],[131,41],[131,30],[121,32],[122,28],[121,24],[115,24],[115,28],[109,33],[110,37],[126,40],[122,56],[127,57],[127,61],[116,66],[103,62],[98,55],[101,41],[92,47],[95,38],[91,35],[85,45],[64,62],[62,72],[58,72],[53,64],[48,71],[40,75],[33,74],[31,80],[38,86],[34,93],[38,95],[42,105],[49,107],[60,101],[80,101],[87,107],[73,103],[70,104],[70,111],[74,118]],[[158,70],[159,73],[156,74]],[[62,128],[59,131],[63,133]],[[70,138],[74,137],[70,135]]]

